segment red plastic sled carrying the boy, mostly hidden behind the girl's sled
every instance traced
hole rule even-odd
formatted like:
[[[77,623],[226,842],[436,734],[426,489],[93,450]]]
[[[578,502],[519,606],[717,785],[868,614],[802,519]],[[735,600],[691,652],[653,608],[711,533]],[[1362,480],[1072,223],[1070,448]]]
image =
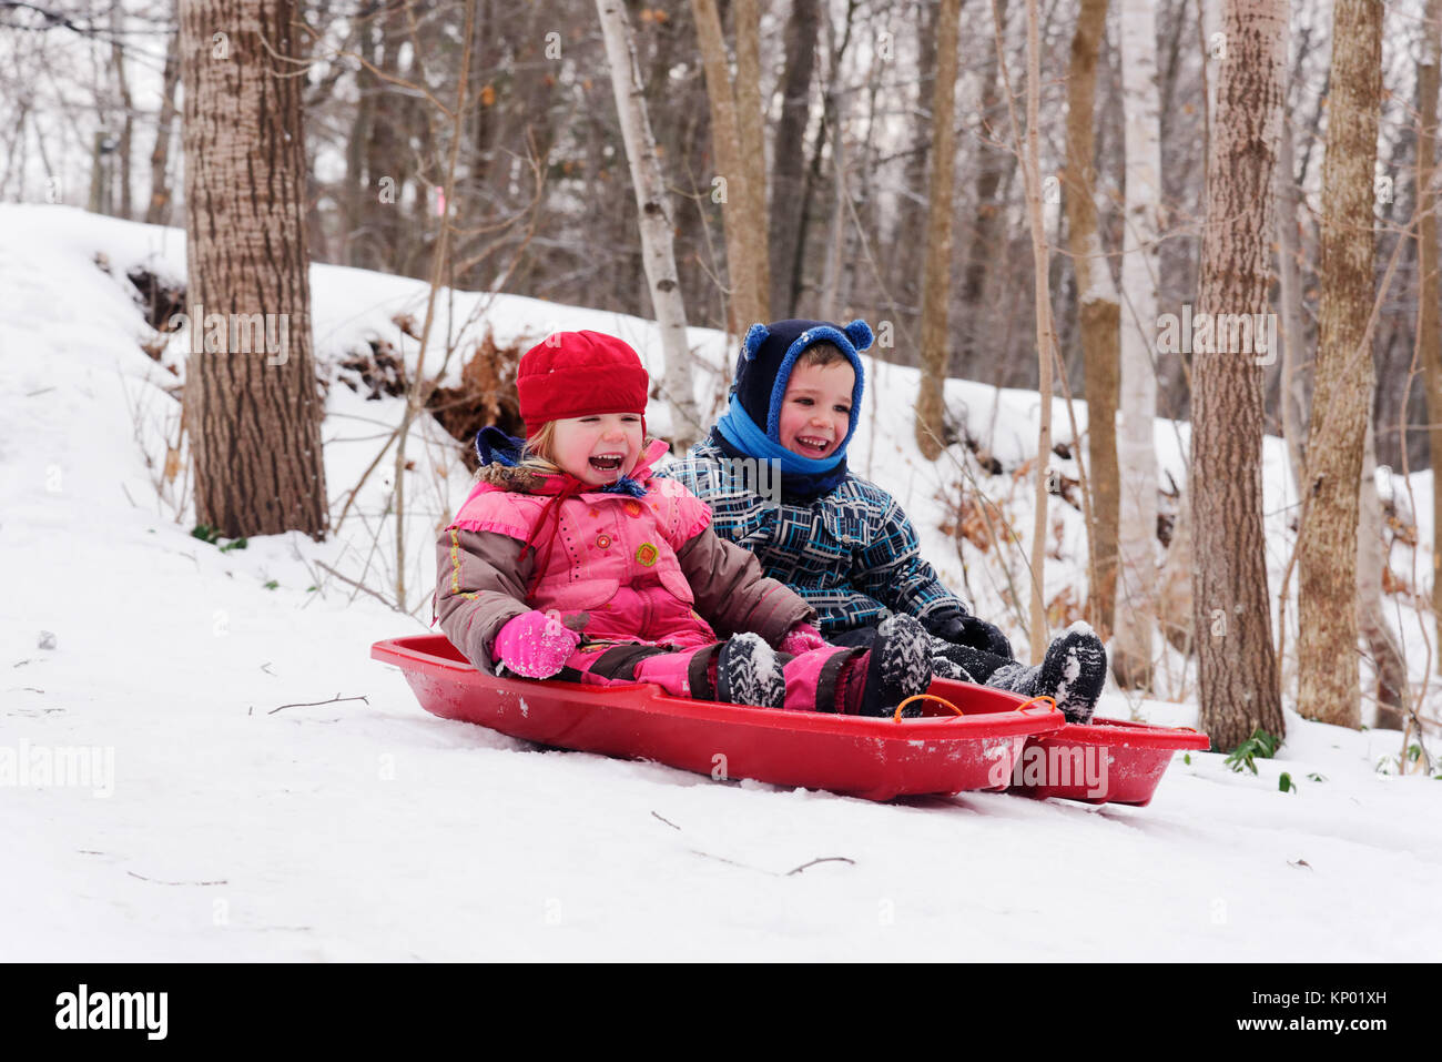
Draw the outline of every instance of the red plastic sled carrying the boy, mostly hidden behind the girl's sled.
[[[1089,804],[1151,804],[1172,756],[1206,752],[1211,739],[1191,727],[1097,719],[1027,739],[1007,792]]]

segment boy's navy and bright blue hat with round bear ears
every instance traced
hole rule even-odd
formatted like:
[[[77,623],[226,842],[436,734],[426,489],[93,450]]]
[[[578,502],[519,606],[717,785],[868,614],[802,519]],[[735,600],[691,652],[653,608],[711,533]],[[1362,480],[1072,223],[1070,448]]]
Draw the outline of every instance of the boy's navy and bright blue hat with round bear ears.
[[[741,342],[731,390],[751,421],[766,431],[767,439],[779,443],[782,398],[786,395],[786,385],[797,358],[816,343],[835,345],[857,374],[857,382],[851,388],[851,423],[846,427],[846,437],[838,447],[839,452],[845,450],[857,431],[861,394],[867,382],[859,352],[871,346],[871,328],[859,317],[844,326],[826,320],[777,320],[770,325],[751,325]]]

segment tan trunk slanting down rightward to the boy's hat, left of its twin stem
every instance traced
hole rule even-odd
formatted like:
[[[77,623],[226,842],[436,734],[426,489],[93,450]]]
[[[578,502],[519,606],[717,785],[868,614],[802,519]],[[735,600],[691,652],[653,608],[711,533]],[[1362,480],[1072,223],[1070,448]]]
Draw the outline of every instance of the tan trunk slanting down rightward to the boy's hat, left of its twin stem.
[[[696,40],[707,74],[707,95],[711,100],[711,146],[717,164],[715,176],[724,182],[717,192],[724,195],[721,216],[725,227],[727,278],[731,286],[727,329],[743,332],[751,322],[761,320],[761,303],[754,286],[754,247],[748,238],[750,227],[746,218],[751,208],[751,192],[747,186],[750,167],[741,162],[741,133],[737,123],[735,95],[731,89],[731,74],[727,69],[725,38],[721,33],[717,0],[691,0],[691,10],[696,20]]]

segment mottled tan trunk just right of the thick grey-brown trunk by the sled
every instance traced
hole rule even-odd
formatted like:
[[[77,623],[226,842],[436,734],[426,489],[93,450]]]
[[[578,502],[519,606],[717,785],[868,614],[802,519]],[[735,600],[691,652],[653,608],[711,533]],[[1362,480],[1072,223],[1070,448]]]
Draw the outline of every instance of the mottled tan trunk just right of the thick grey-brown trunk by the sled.
[[[1374,378],[1373,169],[1381,104],[1381,4],[1332,7],[1322,162],[1322,294],[1306,434],[1306,514],[1296,544],[1298,710],[1361,726],[1357,661],[1357,498]]]

